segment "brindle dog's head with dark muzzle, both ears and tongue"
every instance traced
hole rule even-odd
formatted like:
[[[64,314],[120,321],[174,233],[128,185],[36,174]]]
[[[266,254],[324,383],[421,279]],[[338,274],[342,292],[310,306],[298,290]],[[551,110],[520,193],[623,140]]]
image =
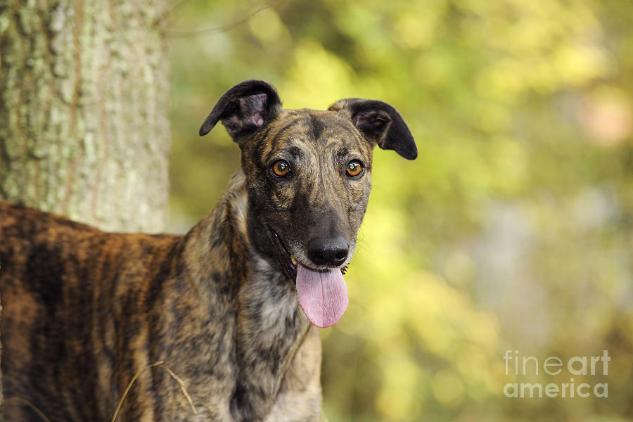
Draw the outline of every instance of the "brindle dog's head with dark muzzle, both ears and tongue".
[[[252,245],[295,283],[309,321],[332,326],[347,309],[342,271],[367,207],[373,148],[413,160],[409,127],[389,104],[361,98],[283,110],[261,80],[226,91],[200,135],[218,121],[242,150]]]

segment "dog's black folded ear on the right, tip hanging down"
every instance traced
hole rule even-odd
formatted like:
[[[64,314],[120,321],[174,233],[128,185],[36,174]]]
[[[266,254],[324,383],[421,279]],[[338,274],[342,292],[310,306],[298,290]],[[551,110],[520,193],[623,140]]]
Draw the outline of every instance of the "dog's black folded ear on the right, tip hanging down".
[[[407,123],[388,103],[362,98],[345,98],[332,104],[330,111],[345,110],[365,139],[383,149],[397,152],[407,160],[418,156],[418,148]]]

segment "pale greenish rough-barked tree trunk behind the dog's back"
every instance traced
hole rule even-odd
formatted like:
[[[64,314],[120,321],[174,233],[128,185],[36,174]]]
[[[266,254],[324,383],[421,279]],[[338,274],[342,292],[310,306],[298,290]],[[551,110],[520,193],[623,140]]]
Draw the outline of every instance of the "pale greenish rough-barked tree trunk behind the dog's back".
[[[0,0],[0,199],[106,230],[165,229],[166,8]]]

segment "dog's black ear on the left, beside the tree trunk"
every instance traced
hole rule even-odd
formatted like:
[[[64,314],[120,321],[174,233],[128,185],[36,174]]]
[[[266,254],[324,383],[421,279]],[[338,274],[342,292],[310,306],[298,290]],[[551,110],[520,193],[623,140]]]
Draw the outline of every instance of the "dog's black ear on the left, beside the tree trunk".
[[[279,114],[281,100],[276,89],[266,81],[250,79],[226,91],[200,127],[204,136],[219,120],[236,143],[243,146],[262,127]]]

